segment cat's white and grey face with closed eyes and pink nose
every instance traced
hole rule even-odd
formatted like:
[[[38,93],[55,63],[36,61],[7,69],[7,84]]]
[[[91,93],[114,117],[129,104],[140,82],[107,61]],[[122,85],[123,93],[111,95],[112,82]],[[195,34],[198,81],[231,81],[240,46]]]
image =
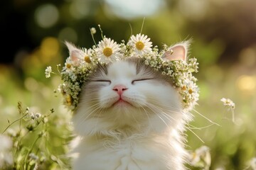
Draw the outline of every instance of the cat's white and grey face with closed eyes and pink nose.
[[[178,94],[168,77],[142,59],[99,67],[83,86],[75,129],[82,135],[119,126],[157,129],[182,118]]]

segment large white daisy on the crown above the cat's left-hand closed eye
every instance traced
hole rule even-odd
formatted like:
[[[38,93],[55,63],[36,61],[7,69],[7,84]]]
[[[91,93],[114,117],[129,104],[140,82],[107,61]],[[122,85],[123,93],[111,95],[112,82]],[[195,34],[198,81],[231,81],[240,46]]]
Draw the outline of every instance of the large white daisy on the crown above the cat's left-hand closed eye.
[[[110,38],[103,38],[97,46],[95,51],[97,52],[100,62],[108,64],[117,61],[122,57],[120,53],[120,45]]]

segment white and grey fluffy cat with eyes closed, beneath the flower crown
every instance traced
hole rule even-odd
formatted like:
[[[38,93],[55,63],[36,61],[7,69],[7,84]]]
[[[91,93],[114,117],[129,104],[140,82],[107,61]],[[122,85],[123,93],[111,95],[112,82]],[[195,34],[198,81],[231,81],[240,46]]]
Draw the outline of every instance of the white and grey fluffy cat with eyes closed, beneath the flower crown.
[[[70,45],[68,45],[70,46]],[[68,47],[70,53],[79,50]],[[188,42],[166,52],[164,60],[186,60]],[[77,145],[74,170],[183,170],[186,125],[170,77],[139,57],[100,65],[82,86],[72,123]]]

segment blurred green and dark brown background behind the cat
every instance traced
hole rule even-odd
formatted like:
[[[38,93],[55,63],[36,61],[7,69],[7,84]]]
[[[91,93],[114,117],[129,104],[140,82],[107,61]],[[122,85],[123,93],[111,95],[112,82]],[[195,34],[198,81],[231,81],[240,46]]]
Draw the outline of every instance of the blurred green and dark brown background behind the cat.
[[[91,47],[90,28],[97,29],[98,42],[100,24],[104,35],[127,42],[131,33],[140,33],[145,18],[142,33],[153,45],[193,39],[190,56],[198,59],[196,77],[201,89],[195,110],[201,115],[193,112],[188,149],[210,147],[210,169],[252,168],[250,160],[256,157],[255,0],[11,0],[0,8],[0,132],[8,120],[19,118],[18,101],[41,113],[54,108],[52,152],[65,153],[61,144],[70,132],[66,128],[70,115],[61,106],[61,96],[53,93],[60,77],[46,79],[46,67],[56,72],[55,65],[65,62],[65,40]],[[220,101],[223,97],[235,102],[235,123]]]

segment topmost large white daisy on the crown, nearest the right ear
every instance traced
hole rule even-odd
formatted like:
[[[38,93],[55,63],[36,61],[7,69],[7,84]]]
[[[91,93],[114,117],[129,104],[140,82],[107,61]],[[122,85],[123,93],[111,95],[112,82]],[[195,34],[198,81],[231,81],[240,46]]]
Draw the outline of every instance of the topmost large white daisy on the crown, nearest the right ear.
[[[128,45],[134,47],[135,52],[139,55],[144,55],[144,53],[151,52],[152,42],[149,41],[150,38],[147,38],[144,34],[137,34],[136,37],[132,35],[131,39],[128,42]]]

